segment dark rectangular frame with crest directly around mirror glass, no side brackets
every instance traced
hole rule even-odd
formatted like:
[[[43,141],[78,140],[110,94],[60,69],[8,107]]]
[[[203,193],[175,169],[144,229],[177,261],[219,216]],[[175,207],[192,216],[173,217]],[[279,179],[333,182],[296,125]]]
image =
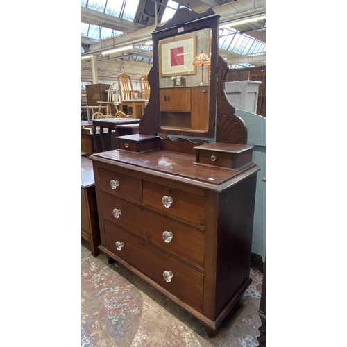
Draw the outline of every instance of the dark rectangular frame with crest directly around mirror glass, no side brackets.
[[[187,35],[193,31],[204,28],[211,29],[211,65],[210,65],[210,98],[209,98],[209,118],[207,131],[194,130],[169,130],[160,128],[160,103],[154,104],[155,133],[160,137],[168,135],[179,135],[185,137],[206,137],[214,138],[217,109],[217,67],[218,67],[218,35],[219,35],[219,15],[209,10],[198,13],[194,10],[181,8],[174,17],[163,26],[157,26],[152,33],[153,40],[153,96],[154,100],[160,100],[159,88],[159,42],[178,35]]]

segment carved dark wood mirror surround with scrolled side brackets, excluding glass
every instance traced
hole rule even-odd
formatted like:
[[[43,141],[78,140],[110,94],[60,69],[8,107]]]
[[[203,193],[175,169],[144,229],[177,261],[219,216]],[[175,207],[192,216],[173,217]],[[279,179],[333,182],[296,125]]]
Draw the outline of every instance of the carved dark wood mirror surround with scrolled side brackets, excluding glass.
[[[183,29],[182,29],[183,28]],[[193,31],[211,28],[211,66],[210,66],[210,103],[208,131],[195,132],[192,130],[167,130],[160,128],[160,98],[159,88],[159,61],[158,42],[179,34],[187,35]],[[215,15],[212,8],[197,13],[194,10],[180,8],[163,26],[158,26],[152,34],[153,37],[153,67],[149,71],[148,79],[151,87],[151,96],[146,105],[144,115],[139,121],[139,134],[142,135],[183,135],[188,138],[211,139],[215,142],[234,144],[247,143],[247,129],[244,121],[235,115],[235,108],[230,105],[225,92],[225,79],[228,65],[218,54],[219,15]],[[216,128],[216,129],[214,129]]]

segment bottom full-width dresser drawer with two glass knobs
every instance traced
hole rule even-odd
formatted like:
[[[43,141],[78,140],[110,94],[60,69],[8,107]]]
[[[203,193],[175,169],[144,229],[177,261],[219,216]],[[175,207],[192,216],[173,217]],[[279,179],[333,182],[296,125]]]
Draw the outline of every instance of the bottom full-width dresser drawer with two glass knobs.
[[[104,225],[106,248],[188,305],[200,312],[203,311],[202,273],[142,242],[108,221],[105,221]],[[117,249],[116,243],[120,249]],[[164,279],[164,271],[167,271],[165,273],[167,280]],[[169,281],[170,277],[171,281]]]

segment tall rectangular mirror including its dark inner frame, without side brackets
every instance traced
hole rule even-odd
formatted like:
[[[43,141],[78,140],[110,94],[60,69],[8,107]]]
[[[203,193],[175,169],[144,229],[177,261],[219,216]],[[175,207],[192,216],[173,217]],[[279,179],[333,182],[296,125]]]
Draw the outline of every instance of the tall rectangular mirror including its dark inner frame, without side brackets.
[[[214,137],[219,16],[194,15],[201,19],[180,24],[186,16],[178,11],[178,18],[153,32],[158,135]]]

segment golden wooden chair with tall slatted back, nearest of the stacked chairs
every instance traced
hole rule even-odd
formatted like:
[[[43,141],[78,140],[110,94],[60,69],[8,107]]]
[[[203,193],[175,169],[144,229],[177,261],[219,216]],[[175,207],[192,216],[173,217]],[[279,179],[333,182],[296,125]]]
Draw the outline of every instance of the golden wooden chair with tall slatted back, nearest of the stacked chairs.
[[[135,99],[135,92],[131,77],[122,72],[117,76],[120,96],[120,109],[126,115],[133,115],[134,118],[141,118],[144,114],[145,99]]]

